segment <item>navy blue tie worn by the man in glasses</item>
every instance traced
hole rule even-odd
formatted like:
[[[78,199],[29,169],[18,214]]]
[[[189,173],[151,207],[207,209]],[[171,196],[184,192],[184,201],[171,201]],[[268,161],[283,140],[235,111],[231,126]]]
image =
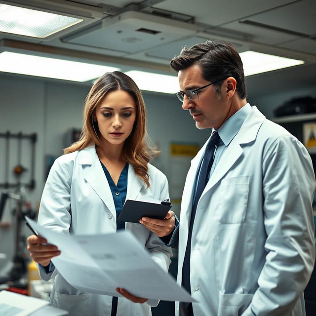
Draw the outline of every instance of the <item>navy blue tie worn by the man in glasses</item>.
[[[190,284],[191,239],[192,239],[192,229],[193,229],[194,219],[197,212],[197,202],[199,198],[201,197],[202,192],[204,191],[204,188],[208,181],[208,174],[209,174],[209,171],[211,170],[213,160],[214,160],[213,158],[214,150],[219,140],[220,140],[220,137],[216,131],[212,134],[206,146],[203,163],[199,171],[199,177],[198,177],[198,182],[197,182],[197,192],[196,192],[195,199],[193,201],[193,206],[192,206],[192,211],[191,211],[188,243],[187,243],[186,253],[184,256],[183,268],[182,268],[182,285],[189,293],[191,293],[191,284]],[[185,304],[185,307],[188,308],[189,303]]]

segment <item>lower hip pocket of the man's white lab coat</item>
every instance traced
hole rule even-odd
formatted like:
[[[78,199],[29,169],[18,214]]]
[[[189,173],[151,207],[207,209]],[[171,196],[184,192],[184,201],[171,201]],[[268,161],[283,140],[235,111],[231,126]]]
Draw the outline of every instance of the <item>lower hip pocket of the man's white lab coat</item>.
[[[219,292],[217,316],[239,316],[252,301],[253,294],[224,294]]]

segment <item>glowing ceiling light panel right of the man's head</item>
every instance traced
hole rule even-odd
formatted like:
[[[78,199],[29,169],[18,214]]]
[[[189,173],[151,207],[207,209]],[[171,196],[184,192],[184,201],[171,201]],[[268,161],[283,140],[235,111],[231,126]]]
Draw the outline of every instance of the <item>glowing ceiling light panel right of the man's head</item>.
[[[251,50],[239,53],[239,55],[243,63],[245,76],[304,64],[303,60],[263,54]]]

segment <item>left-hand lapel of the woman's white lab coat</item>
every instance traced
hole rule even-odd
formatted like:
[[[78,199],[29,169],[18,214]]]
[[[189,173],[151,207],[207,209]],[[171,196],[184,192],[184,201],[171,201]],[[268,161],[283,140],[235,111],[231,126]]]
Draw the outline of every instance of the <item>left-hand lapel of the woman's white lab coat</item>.
[[[84,179],[116,218],[116,210],[110,185],[96,154],[95,146],[88,147],[80,152],[79,164],[82,165]]]

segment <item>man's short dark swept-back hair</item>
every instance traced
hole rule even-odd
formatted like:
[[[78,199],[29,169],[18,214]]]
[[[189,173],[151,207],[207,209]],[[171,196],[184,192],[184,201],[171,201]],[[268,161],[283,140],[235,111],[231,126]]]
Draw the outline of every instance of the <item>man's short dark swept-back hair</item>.
[[[176,72],[197,64],[202,69],[202,77],[214,83],[217,93],[223,79],[234,77],[240,99],[247,96],[242,61],[235,47],[225,41],[207,40],[190,48],[184,46],[179,56],[174,57],[170,66]]]

